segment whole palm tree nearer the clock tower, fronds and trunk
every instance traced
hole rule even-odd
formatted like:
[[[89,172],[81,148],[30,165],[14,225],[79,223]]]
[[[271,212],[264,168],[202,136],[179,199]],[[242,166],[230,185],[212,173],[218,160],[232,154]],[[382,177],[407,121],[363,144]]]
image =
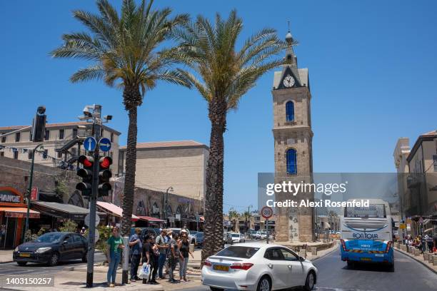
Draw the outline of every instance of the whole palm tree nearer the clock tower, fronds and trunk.
[[[283,63],[272,56],[283,50],[285,44],[273,29],[262,29],[253,34],[237,51],[236,41],[243,21],[231,11],[228,19],[216,15],[212,25],[203,16],[178,27],[172,34],[179,41],[178,52],[194,71],[181,71],[208,102],[211,137],[206,170],[205,245],[202,262],[223,248],[223,133],[226,115],[236,109],[238,101],[263,73]],[[178,55],[179,56],[179,55]],[[198,78],[199,77],[199,78]]]

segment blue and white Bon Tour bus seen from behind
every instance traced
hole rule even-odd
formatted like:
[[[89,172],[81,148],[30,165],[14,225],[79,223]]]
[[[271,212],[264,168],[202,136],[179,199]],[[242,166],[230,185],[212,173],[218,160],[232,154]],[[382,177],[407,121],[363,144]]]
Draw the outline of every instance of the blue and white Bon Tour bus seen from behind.
[[[368,207],[346,207],[341,217],[341,260],[394,267],[393,220],[388,203],[368,199]],[[352,200],[348,200],[352,201]]]

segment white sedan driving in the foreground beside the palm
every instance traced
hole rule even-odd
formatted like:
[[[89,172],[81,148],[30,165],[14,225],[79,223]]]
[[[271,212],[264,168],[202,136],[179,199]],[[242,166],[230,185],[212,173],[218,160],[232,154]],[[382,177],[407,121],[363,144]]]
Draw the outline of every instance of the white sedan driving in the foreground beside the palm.
[[[312,290],[316,278],[317,268],[296,252],[282,245],[253,242],[232,245],[208,257],[201,280],[212,291],[270,291],[295,286]]]

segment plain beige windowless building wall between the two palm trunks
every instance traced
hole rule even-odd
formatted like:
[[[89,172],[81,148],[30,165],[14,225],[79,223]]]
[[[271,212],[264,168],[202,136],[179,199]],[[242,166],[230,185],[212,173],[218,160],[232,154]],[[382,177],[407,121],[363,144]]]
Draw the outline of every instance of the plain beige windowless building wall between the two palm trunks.
[[[135,184],[204,200],[209,148],[196,141],[138,143]],[[126,146],[120,148],[119,173],[124,173]]]

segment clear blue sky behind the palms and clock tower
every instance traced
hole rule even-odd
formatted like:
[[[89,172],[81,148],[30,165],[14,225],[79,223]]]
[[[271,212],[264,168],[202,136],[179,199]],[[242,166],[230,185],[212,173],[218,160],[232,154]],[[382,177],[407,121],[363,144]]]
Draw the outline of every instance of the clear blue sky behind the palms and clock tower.
[[[119,1],[113,1],[118,5]],[[246,39],[264,26],[285,36],[291,21],[298,64],[308,67],[313,165],[322,172],[392,172],[397,138],[411,143],[436,129],[436,1],[156,1],[176,13],[223,16],[236,8]],[[0,126],[29,124],[37,106],[51,123],[76,121],[100,103],[124,133],[121,91],[99,81],[69,83],[84,61],[52,59],[61,34],[84,28],[71,10],[96,11],[94,1],[0,1]],[[257,173],[273,171],[273,72],[228,115],[225,209],[256,205]],[[196,91],[160,83],[139,109],[138,140],[192,139],[209,144],[206,103]],[[237,210],[244,208],[236,207]]]

